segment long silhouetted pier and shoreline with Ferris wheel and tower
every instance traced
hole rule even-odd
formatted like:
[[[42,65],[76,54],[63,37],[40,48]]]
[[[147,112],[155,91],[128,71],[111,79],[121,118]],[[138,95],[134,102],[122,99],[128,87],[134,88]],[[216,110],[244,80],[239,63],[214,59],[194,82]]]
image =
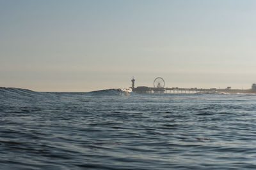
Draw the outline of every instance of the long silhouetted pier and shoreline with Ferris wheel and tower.
[[[132,77],[132,92],[136,93],[228,93],[228,94],[239,94],[239,93],[256,93],[256,83],[252,84],[252,89],[232,89],[231,87],[227,87],[226,89],[198,89],[198,88],[180,88],[180,87],[164,87],[164,79],[161,77],[157,77],[154,80],[154,87],[147,86],[138,86],[134,87],[135,79]]]

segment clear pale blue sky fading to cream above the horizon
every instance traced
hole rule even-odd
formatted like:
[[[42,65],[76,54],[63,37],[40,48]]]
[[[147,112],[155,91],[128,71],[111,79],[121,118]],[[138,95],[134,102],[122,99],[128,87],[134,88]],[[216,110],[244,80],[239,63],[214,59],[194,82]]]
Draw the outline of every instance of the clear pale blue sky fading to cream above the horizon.
[[[249,89],[256,1],[0,0],[0,87]]]

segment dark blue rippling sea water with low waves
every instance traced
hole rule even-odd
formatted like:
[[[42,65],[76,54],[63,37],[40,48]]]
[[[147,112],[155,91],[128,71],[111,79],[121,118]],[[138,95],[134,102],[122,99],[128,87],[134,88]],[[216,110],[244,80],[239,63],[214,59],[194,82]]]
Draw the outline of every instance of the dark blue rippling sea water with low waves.
[[[255,168],[255,95],[0,88],[0,169]]]

